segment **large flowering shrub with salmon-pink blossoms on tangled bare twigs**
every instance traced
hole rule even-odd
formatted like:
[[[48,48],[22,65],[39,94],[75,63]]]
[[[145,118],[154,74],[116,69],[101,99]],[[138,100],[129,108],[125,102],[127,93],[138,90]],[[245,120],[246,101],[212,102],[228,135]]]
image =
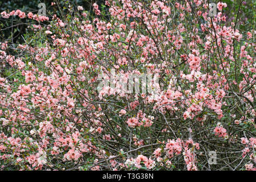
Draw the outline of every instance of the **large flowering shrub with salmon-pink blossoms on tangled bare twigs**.
[[[255,170],[255,32],[239,14],[226,22],[218,2],[209,16],[203,0],[67,7],[1,13],[30,20],[23,44],[0,45],[1,169]],[[159,82],[99,90],[113,69]]]

